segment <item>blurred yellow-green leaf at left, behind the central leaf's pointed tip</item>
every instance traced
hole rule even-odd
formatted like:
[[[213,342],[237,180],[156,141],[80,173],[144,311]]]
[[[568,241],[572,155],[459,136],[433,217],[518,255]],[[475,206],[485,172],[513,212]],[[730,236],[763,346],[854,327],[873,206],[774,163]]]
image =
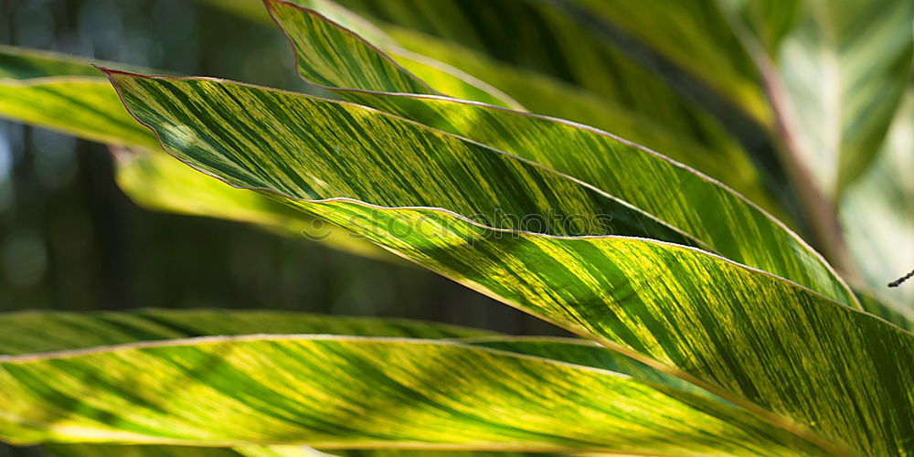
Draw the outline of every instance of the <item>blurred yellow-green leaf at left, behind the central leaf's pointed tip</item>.
[[[270,198],[225,186],[161,154],[155,135],[124,110],[111,83],[89,59],[0,46],[0,116],[123,145],[113,148],[117,182],[143,207],[253,223],[284,236],[321,240],[338,250],[395,260],[341,228]]]

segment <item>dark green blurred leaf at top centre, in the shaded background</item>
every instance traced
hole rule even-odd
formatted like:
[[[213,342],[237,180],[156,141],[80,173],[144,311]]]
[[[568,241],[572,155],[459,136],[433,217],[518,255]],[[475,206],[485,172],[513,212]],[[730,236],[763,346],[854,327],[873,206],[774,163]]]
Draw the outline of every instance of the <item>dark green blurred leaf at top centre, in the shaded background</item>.
[[[294,3],[319,6],[303,0]],[[704,114],[694,103],[678,96],[669,81],[658,77],[656,69],[632,58],[620,44],[609,43],[593,33],[586,20],[569,15],[557,7],[558,2],[448,0],[429,4],[406,0],[394,5],[377,0],[340,0],[336,3],[380,23],[439,37],[516,67],[568,81],[607,100],[618,101],[645,117],[675,126],[673,130],[680,133],[690,132],[682,118],[683,112]],[[656,8],[651,9],[653,12]],[[505,17],[512,20],[506,21]],[[403,46],[409,48],[413,44],[409,40]],[[430,57],[439,58],[435,54]],[[695,133],[691,130],[687,136]]]

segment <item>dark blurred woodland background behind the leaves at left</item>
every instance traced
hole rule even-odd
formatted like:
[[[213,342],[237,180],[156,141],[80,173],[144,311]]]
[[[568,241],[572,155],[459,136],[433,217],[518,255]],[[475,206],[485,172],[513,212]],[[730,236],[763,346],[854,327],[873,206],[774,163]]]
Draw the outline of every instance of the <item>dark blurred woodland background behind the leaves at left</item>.
[[[190,0],[0,0],[0,43],[303,87],[278,29]],[[558,332],[418,268],[136,207],[115,186],[103,145],[0,120],[0,311],[148,306]]]

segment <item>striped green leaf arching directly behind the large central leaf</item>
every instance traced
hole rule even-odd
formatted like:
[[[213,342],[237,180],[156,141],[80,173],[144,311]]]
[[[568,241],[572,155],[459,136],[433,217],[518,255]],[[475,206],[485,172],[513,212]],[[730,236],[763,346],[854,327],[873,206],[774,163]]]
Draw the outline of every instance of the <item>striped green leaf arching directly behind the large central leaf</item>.
[[[325,41],[330,41],[327,37],[339,38],[332,41],[335,46],[343,46],[343,39],[351,38],[336,27],[321,26],[320,22],[315,22],[319,17],[308,10],[283,3],[271,8],[273,17],[285,27],[286,34],[293,37],[298,55],[314,53],[309,45],[323,42],[314,38],[315,33],[324,32]],[[363,46],[367,44],[363,43]],[[334,63],[338,61],[336,59]],[[362,75],[384,78],[382,70],[372,70],[370,59],[356,54],[346,56],[345,61],[360,69]],[[306,78],[323,68],[313,67],[313,64],[308,59],[299,61],[299,69]],[[324,66],[330,64],[324,62]],[[336,68],[340,71],[338,64]],[[337,84],[347,82],[332,74],[327,80]],[[367,84],[367,81],[361,83]],[[856,305],[853,294],[821,256],[780,222],[707,176],[659,154],[571,122],[469,101],[363,89],[366,87],[335,91],[360,104],[461,135],[572,175],[680,228],[728,259],[781,275],[839,302]]]

